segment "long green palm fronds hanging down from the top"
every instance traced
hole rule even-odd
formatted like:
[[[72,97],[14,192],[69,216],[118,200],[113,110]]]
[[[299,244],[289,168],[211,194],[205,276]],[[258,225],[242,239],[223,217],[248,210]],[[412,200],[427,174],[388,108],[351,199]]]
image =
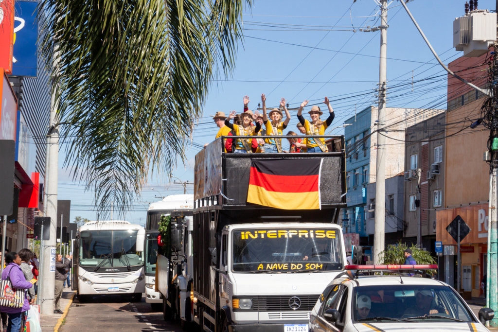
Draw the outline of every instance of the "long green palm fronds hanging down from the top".
[[[252,0],[42,0],[64,166],[99,211],[170,174],[214,77],[230,74]],[[52,57],[54,47],[57,55]],[[55,61],[55,60],[57,61]]]

